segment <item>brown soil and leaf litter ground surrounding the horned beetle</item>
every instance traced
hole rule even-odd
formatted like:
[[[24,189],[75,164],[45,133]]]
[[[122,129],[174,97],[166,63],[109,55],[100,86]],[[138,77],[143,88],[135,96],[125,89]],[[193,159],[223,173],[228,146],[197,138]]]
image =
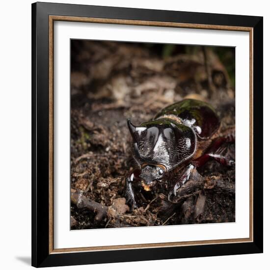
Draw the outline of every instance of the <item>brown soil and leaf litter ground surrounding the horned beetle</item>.
[[[212,104],[222,130],[235,124],[234,86],[220,60],[234,66],[233,49],[224,48],[221,57],[213,48],[190,52],[190,47],[176,46],[167,55],[165,46],[72,41],[71,187],[116,212],[96,220],[95,211],[73,202],[71,229],[235,221],[235,167],[216,161],[198,172],[233,187],[229,192],[196,189],[176,204],[166,200],[168,190],[145,192],[136,210],[119,199],[135,166],[127,118],[138,125],[189,97]],[[233,158],[234,152],[234,144],[228,144],[227,155]]]

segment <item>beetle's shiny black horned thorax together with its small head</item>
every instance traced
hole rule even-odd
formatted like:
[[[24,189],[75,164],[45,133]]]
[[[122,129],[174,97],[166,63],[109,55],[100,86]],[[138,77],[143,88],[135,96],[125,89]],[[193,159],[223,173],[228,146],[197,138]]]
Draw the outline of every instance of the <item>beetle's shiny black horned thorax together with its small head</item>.
[[[171,119],[155,119],[139,127],[128,119],[128,127],[134,142],[134,159],[142,170],[142,178],[148,177],[149,181],[163,177],[164,173],[158,174],[159,166],[164,172],[170,171],[195,151],[194,131]],[[144,164],[149,164],[149,167],[144,167]]]

